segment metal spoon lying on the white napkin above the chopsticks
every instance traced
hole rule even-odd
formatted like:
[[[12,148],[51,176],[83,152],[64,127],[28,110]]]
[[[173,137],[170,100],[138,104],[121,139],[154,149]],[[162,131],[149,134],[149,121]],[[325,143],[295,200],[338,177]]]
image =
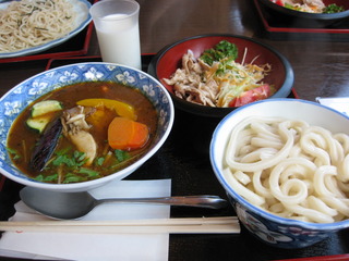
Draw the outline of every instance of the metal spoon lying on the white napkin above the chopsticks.
[[[183,196],[164,198],[107,198],[95,199],[88,192],[57,192],[33,187],[20,191],[22,201],[37,212],[60,220],[73,220],[86,215],[100,203],[154,203],[220,209],[227,201],[217,196]]]

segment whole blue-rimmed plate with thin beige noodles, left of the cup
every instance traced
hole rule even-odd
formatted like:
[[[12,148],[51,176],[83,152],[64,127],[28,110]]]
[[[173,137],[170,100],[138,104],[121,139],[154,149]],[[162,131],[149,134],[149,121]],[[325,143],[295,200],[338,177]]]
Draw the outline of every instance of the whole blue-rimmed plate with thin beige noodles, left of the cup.
[[[92,21],[86,0],[0,3],[0,59],[29,55],[71,39]]]

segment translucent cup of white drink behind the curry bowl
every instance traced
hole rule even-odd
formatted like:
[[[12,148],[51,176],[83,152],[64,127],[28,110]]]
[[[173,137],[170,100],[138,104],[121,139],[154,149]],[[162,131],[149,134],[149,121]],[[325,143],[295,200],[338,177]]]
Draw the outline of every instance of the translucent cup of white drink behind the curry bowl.
[[[103,0],[89,13],[104,62],[141,70],[140,4],[134,0]]]

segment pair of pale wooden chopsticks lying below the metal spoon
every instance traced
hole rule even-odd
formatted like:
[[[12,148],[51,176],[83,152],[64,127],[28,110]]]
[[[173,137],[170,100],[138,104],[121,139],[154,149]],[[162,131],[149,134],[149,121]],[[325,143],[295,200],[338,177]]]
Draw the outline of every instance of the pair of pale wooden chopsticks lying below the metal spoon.
[[[149,219],[130,221],[7,221],[0,231],[101,234],[236,234],[236,216]]]

